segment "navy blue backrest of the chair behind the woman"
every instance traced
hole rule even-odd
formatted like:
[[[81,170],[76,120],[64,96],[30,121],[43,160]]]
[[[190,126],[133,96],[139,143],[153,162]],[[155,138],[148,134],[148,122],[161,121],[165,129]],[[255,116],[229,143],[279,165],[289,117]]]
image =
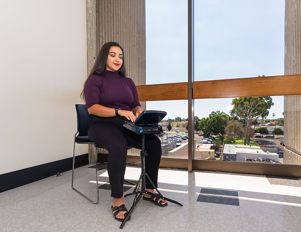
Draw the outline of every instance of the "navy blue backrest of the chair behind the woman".
[[[93,119],[93,114],[89,114],[88,110],[85,110],[85,105],[76,104],[77,114],[77,131],[78,136],[88,136],[88,127]]]

